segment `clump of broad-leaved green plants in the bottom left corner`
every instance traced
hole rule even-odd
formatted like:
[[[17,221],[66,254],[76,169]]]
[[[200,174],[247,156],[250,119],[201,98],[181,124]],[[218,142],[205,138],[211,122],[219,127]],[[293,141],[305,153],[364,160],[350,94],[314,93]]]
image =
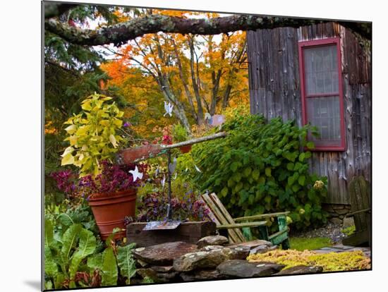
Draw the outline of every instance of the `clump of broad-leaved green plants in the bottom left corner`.
[[[116,285],[119,274],[129,284],[135,274],[135,244],[116,247],[112,238],[117,230],[103,243],[90,207],[47,214],[44,223],[47,289]]]

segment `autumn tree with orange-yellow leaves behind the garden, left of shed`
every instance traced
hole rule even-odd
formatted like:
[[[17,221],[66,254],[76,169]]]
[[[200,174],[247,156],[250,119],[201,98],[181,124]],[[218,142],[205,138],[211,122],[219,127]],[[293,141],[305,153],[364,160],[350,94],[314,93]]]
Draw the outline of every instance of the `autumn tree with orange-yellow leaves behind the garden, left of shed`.
[[[136,17],[155,13],[181,18],[198,14],[147,9]],[[207,13],[207,17],[218,15]],[[214,36],[155,33],[128,42],[114,54],[118,58],[110,65],[111,77],[117,76],[113,68],[123,72],[123,66],[138,67],[145,77],[152,76],[189,132],[190,121],[202,124],[205,112],[213,115],[225,109],[236,92],[245,100],[248,97],[247,72],[241,70],[246,60],[244,32],[224,34],[218,42]]]

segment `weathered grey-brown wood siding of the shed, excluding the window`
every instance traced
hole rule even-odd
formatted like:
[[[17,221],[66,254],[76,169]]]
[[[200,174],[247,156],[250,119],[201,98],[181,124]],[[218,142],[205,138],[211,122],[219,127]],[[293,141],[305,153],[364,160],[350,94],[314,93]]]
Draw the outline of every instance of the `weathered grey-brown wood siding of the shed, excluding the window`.
[[[370,57],[351,31],[334,23],[248,31],[250,111],[268,119],[294,119],[301,126],[298,41],[327,37],[341,37],[346,151],[313,152],[310,171],[329,179],[327,203],[350,204],[351,178],[371,178],[372,130]]]

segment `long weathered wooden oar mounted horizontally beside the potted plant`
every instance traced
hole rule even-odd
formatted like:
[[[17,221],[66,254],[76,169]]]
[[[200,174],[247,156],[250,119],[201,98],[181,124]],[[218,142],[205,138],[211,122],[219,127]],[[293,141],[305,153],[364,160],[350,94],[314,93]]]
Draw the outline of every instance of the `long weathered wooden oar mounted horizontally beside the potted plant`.
[[[140,162],[141,160],[149,159],[160,154],[164,154],[169,149],[178,148],[186,145],[193,145],[199,142],[210,141],[218,138],[224,138],[227,135],[226,132],[208,135],[205,137],[194,138],[191,140],[178,142],[171,145],[163,144],[150,144],[138,147],[131,147],[121,150],[116,157],[118,164],[131,164],[134,162]]]

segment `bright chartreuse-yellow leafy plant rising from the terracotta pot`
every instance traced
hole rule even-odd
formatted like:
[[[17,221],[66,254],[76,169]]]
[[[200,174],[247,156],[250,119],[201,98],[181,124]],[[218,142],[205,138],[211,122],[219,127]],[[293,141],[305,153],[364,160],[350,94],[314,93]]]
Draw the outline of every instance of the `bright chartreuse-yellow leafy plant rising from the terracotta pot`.
[[[66,141],[70,146],[63,152],[61,165],[73,164],[80,168],[80,176],[99,174],[99,162],[111,160],[123,140],[118,134],[123,121],[123,111],[111,97],[90,95],[83,100],[80,114],[65,122],[69,125]]]

